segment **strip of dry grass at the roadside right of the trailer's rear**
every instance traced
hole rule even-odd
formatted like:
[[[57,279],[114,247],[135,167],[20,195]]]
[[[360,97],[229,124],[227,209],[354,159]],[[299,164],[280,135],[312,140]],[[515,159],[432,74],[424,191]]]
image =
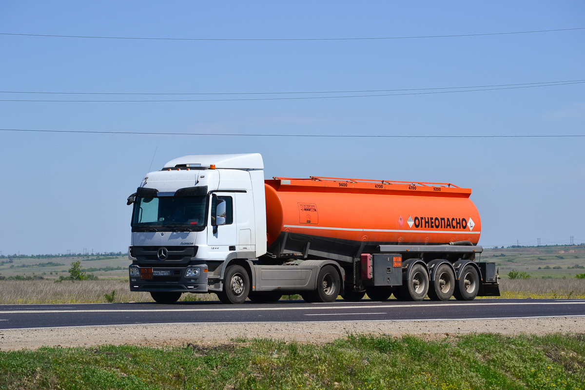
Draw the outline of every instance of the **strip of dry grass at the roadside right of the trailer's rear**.
[[[501,298],[585,298],[585,279],[501,279]]]

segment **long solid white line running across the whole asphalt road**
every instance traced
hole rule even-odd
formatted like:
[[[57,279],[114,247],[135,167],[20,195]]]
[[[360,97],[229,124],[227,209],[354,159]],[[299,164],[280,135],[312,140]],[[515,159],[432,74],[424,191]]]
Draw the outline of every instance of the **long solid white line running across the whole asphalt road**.
[[[353,306],[322,306],[319,304],[311,306],[293,306],[293,307],[261,307],[261,308],[198,308],[198,309],[82,309],[82,310],[6,310],[0,311],[0,314],[22,314],[22,313],[160,313],[160,312],[254,312],[270,310],[325,310],[325,309],[370,309],[370,308],[460,308],[461,306],[522,306],[522,305],[585,305],[585,299],[582,301],[572,302],[469,302],[469,303],[421,303],[419,305],[353,305]]]

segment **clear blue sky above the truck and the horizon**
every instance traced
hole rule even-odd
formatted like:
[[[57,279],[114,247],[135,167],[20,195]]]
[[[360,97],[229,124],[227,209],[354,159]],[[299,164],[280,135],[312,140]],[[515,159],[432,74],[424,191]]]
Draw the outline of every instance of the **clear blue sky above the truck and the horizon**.
[[[209,39],[404,37],[585,27],[582,1],[0,2],[0,33]],[[585,134],[585,84],[199,102],[14,102],[467,87],[585,79],[585,30],[388,40],[0,35],[0,129],[211,134]],[[330,94],[331,95],[331,94]],[[225,99],[317,95],[178,95]],[[329,96],[329,95],[328,95]],[[0,130],[2,254],[126,251],[126,198],[188,154],[258,152],[266,178],[472,188],[487,247],[585,242],[585,138],[327,138]],[[152,164],[152,165],[151,165]]]

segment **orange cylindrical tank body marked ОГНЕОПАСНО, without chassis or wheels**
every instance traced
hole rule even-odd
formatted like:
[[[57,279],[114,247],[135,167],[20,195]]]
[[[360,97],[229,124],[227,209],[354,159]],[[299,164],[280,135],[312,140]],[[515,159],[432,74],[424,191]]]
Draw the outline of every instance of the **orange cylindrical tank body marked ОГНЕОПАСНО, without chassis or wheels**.
[[[269,253],[349,261],[381,244],[477,244],[472,191],[450,183],[343,178],[264,181]]]

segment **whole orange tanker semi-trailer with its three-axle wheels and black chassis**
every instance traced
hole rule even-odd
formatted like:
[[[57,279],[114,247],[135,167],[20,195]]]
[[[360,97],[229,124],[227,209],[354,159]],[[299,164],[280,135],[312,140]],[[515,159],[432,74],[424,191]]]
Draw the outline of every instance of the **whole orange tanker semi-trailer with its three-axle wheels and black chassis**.
[[[269,257],[338,262],[345,299],[499,295],[495,264],[476,262],[471,189],[329,177],[275,177],[264,187]]]

